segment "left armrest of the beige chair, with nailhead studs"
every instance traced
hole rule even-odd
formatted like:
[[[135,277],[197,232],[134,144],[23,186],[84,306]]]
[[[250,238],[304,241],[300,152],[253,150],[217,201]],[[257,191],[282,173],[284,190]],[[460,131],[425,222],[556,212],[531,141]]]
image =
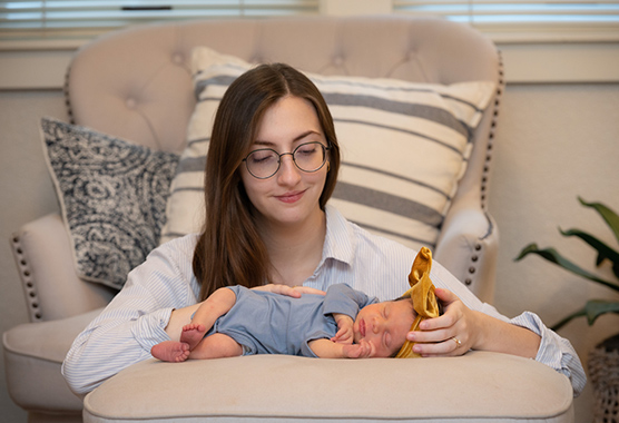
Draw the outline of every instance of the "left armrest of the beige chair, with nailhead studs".
[[[31,322],[52,321],[105,306],[114,292],[81,281],[62,218],[43,216],[11,237]]]

